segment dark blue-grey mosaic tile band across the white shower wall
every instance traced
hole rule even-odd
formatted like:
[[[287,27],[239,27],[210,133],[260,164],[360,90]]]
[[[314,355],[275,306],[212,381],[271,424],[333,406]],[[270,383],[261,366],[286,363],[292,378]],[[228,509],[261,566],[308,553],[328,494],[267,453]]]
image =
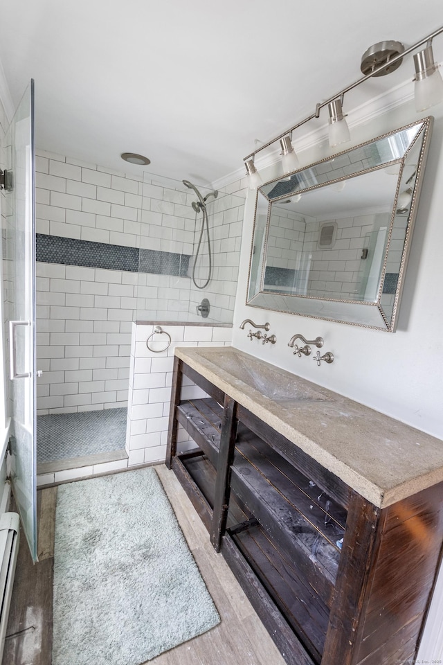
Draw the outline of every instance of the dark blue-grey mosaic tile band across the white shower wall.
[[[186,276],[188,254],[36,234],[37,261],[89,268]]]

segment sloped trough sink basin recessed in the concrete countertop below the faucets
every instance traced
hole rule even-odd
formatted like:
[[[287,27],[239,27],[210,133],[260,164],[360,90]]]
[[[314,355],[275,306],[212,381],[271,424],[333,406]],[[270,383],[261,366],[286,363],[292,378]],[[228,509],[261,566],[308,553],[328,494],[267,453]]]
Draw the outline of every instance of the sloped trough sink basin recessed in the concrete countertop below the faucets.
[[[294,402],[331,401],[304,379],[231,346],[199,348],[199,356],[214,365],[215,373],[218,368],[283,407]]]

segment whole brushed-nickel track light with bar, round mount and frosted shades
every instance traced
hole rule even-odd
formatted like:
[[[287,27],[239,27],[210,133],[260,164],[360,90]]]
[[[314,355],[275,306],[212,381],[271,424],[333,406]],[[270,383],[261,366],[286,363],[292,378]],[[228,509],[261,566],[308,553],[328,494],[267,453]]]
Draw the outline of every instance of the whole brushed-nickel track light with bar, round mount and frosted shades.
[[[257,174],[257,169],[254,166],[254,157],[255,155],[269,148],[269,145],[272,145],[276,141],[280,141],[282,147],[282,161],[284,162],[284,172],[287,171],[286,161],[287,158],[294,160],[295,152],[293,152],[291,144],[292,132],[298,127],[302,127],[309,121],[314,120],[314,118],[320,118],[320,111],[323,107],[327,106],[329,110],[329,145],[335,146],[340,143],[345,143],[345,141],[350,141],[349,128],[345,121],[345,116],[343,114],[343,96],[350,90],[361,85],[361,83],[367,81],[372,76],[386,76],[386,74],[395,71],[400,67],[401,62],[403,62],[406,55],[410,55],[413,51],[417,51],[420,46],[426,46],[426,48],[419,51],[414,55],[415,61],[415,71],[416,75],[414,78],[415,81],[415,96],[416,96],[416,105],[418,110],[427,109],[435,104],[438,104],[443,101],[443,80],[440,76],[440,72],[437,70],[438,65],[434,61],[434,56],[432,52],[432,40],[437,35],[443,33],[443,26],[434,30],[433,33],[420,39],[419,42],[409,46],[409,48],[404,48],[404,45],[401,42],[395,42],[393,40],[387,40],[385,42],[379,42],[378,44],[373,44],[370,48],[367,48],[363,57],[361,59],[361,71],[363,72],[363,77],[354,81],[343,90],[338,91],[329,99],[324,100],[321,103],[316,105],[315,113],[307,116],[304,120],[300,121],[296,125],[289,127],[288,130],[282,132],[278,136],[274,136],[271,141],[267,143],[262,143],[260,148],[257,148],[251,154],[248,154],[244,157],[244,162],[246,166],[246,173],[248,174],[249,179],[249,188],[256,189],[257,186],[260,186],[261,178]],[[293,162],[295,163],[295,161]],[[291,166],[292,170],[296,170],[297,166]],[[253,175],[257,174],[253,178]],[[260,181],[258,181],[260,178]]]

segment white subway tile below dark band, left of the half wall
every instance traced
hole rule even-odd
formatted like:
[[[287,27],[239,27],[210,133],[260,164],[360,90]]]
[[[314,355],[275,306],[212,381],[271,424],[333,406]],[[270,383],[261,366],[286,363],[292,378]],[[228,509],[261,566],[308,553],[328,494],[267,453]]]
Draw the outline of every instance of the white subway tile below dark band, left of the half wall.
[[[127,275],[37,263],[37,414],[127,405],[132,310],[121,289],[134,297],[135,288]]]

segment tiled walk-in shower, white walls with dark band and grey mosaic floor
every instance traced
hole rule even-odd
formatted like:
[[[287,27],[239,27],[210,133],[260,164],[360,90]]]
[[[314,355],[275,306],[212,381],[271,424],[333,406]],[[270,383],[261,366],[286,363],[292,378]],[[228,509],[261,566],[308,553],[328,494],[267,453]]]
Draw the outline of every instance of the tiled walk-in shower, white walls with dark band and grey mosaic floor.
[[[195,191],[47,152],[37,152],[36,170],[37,465],[109,459],[125,448],[132,321],[232,322],[244,193],[231,186],[208,200],[213,274],[200,290],[190,275],[201,224]],[[109,414],[118,414],[116,436],[103,431]]]

